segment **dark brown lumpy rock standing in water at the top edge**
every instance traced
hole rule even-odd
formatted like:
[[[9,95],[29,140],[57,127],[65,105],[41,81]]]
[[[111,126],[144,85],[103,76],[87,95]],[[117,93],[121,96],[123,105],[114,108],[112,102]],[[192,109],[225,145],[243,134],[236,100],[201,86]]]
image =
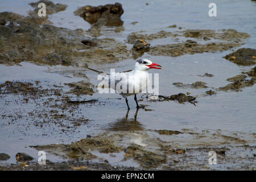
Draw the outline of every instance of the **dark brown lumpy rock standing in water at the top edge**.
[[[107,19],[106,26],[123,25],[123,21],[120,18],[123,14],[123,8],[120,3],[105,6],[83,6],[77,9],[74,14],[81,16],[90,24],[98,22],[100,18],[104,18]]]

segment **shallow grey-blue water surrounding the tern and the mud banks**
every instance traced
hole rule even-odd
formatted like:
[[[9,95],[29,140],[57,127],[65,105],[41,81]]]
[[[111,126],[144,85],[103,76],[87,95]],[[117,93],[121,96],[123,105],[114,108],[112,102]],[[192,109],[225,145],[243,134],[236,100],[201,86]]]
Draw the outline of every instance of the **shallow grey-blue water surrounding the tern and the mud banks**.
[[[32,7],[28,5],[31,1],[2,1],[0,11],[13,11],[22,15],[27,15]],[[85,5],[105,5],[115,1],[53,1],[55,3],[67,4],[67,10],[49,15],[49,20],[55,26],[65,28],[82,28],[88,30],[90,24],[79,16],[73,15],[73,11],[79,6]],[[103,28],[104,35],[100,38],[115,38],[125,42],[131,32],[145,31],[143,34],[151,34],[160,30],[177,31],[177,28],[166,28],[172,24],[183,29],[212,29],[233,28],[238,32],[246,32],[251,37],[245,40],[242,47],[256,48],[256,3],[252,1],[216,1],[217,17],[208,16],[209,1],[150,1],[145,5],[145,1],[119,1],[122,3],[125,13],[122,15],[125,31],[114,33],[111,27]],[[138,21],[137,24],[130,24]],[[184,29],[184,30],[185,30]],[[171,38],[156,39],[152,45],[173,43]],[[132,46],[132,45],[130,45]],[[152,73],[159,73],[159,94],[170,96],[171,94],[190,92],[192,96],[198,96],[196,106],[186,103],[179,104],[174,101],[153,102],[143,100],[139,102],[146,106],[147,110],[135,109],[133,97],[129,97],[131,110],[127,113],[125,101],[119,100],[121,96],[117,94],[98,94],[93,96],[82,96],[78,100],[97,99],[103,104],[79,105],[77,113],[85,115],[90,120],[87,125],[82,125],[75,132],[60,134],[59,131],[48,126],[44,129],[31,126],[26,129],[22,122],[32,123],[33,121],[21,120],[19,123],[7,125],[5,119],[0,119],[0,152],[11,155],[7,163],[15,163],[17,152],[27,152],[36,158],[37,151],[28,147],[36,144],[49,143],[70,143],[85,138],[87,134],[97,135],[103,131],[140,131],[140,130],[181,130],[181,129],[209,129],[224,130],[228,133],[243,131],[246,133],[256,132],[255,110],[256,110],[256,89],[255,85],[244,88],[242,92],[218,92],[213,96],[202,96],[207,89],[183,89],[172,85],[173,82],[183,82],[191,84],[195,81],[207,82],[207,86],[218,88],[229,82],[226,78],[236,76],[242,71],[247,71],[253,67],[242,67],[222,58],[233,51],[202,53],[195,55],[184,55],[179,57],[151,56],[144,53],[143,57],[163,66],[162,70],[154,70]],[[97,85],[97,75],[85,69],[73,67],[46,67],[34,65],[32,63],[22,63],[22,67],[7,67],[0,65],[0,83],[6,80],[35,81],[39,80],[43,86],[53,84],[63,84],[66,82],[80,81],[82,78],[72,76],[72,72],[84,72],[90,78],[90,82]],[[134,60],[124,60],[113,64],[90,64],[89,67],[109,72],[110,68],[115,71],[133,69]],[[210,73],[214,77],[199,77]],[[69,76],[69,77],[67,77]],[[46,82],[46,83],[44,83]],[[64,86],[64,89],[68,87]],[[138,98],[141,97],[139,94]],[[76,97],[74,97],[76,98]],[[14,98],[9,98],[14,101]],[[0,114],[11,113],[14,110],[34,109],[35,105],[16,105],[11,103],[5,105],[6,100],[0,99]],[[40,109],[40,108],[39,108]],[[43,108],[41,108],[43,109]],[[43,136],[42,134],[47,134]],[[150,133],[148,133],[150,135]],[[105,157],[108,158],[108,157]],[[59,160],[52,155],[50,160]],[[110,160],[110,159],[109,159]],[[113,162],[117,164],[117,161]],[[122,163],[119,163],[122,164]],[[133,163],[128,163],[133,164]],[[125,165],[125,164],[123,164]],[[134,164],[135,165],[135,164]]]

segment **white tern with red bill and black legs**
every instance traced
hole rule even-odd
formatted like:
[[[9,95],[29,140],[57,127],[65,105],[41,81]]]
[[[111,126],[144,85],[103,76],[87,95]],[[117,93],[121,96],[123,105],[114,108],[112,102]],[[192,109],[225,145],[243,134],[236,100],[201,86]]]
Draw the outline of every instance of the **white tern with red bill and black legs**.
[[[112,88],[118,94],[121,94],[125,98],[128,110],[130,109],[127,97],[134,95],[134,100],[137,104],[137,108],[140,108],[136,94],[141,93],[147,88],[147,85],[150,83],[148,78],[148,69],[162,69],[159,64],[152,63],[148,59],[138,59],[135,63],[135,68],[130,72],[120,72],[120,73],[105,73],[105,77],[108,80],[109,88]],[[87,67],[88,68],[88,67]],[[88,68],[99,74],[103,73],[92,68]],[[110,76],[110,79],[109,79]]]

